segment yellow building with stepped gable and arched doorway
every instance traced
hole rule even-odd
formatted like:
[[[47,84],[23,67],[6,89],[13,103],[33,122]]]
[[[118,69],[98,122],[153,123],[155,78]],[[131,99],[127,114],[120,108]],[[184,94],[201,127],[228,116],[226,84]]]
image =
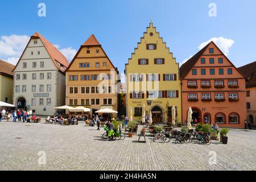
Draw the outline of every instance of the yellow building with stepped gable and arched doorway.
[[[175,106],[175,118],[181,122],[179,64],[152,23],[128,60],[125,73],[128,117],[132,115],[134,120],[141,120],[145,106],[146,114],[152,113],[153,122],[172,122]]]

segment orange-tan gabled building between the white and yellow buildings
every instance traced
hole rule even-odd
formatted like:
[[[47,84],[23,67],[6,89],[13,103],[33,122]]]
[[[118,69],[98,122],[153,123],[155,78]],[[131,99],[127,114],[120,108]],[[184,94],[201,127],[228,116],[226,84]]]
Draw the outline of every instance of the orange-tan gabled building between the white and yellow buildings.
[[[65,73],[66,105],[89,107],[90,117],[100,109],[118,110],[118,70],[94,35],[82,44]]]

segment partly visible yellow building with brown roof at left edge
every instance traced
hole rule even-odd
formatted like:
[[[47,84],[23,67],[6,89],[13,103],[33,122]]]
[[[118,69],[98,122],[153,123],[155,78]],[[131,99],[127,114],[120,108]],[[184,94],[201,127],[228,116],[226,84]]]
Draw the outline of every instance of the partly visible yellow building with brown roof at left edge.
[[[0,60],[0,101],[13,104],[14,65]]]

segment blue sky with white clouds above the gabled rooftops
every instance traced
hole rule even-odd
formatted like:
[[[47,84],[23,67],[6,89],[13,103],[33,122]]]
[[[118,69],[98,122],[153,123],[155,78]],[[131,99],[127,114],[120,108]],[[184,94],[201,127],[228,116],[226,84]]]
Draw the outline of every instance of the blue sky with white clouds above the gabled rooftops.
[[[71,61],[94,34],[123,72],[152,19],[180,65],[213,40],[240,67],[256,60],[255,8],[255,0],[0,1],[0,59],[16,64],[38,31]]]

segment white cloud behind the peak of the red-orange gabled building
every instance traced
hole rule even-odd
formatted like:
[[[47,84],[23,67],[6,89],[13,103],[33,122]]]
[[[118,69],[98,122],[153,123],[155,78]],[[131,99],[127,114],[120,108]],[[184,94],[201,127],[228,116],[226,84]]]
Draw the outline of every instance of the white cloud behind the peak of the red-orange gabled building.
[[[199,49],[204,48],[207,44],[209,44],[211,41],[213,41],[218,48],[221,49],[221,51],[228,56],[229,55],[229,48],[233,46],[234,40],[232,39],[225,39],[222,36],[220,38],[212,38],[210,40],[207,40],[207,42],[203,42],[198,47]]]

